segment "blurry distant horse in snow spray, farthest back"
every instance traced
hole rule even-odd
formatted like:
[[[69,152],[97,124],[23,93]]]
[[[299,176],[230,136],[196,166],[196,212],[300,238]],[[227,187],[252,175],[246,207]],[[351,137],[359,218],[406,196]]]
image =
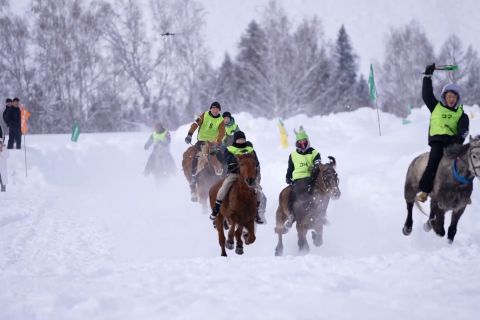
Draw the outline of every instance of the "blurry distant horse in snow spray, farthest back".
[[[162,143],[155,144],[152,153],[148,157],[144,174],[152,174],[155,182],[159,183],[171,176],[175,170],[175,163],[168,145]]]

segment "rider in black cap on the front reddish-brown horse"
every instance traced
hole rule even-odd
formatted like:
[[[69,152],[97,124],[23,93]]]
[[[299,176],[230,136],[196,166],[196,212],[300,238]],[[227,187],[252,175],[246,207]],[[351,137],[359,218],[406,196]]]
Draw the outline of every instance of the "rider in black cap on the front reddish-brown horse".
[[[267,222],[265,219],[265,207],[266,207],[266,197],[263,195],[262,188],[260,187],[260,163],[258,162],[257,153],[253,149],[253,145],[250,141],[247,141],[245,133],[243,131],[237,131],[233,134],[233,144],[225,150],[224,159],[227,163],[227,177],[223,181],[222,186],[217,192],[217,199],[215,201],[215,206],[212,209],[212,214],[210,215],[211,220],[215,220],[218,213],[220,212],[220,207],[223,200],[228,194],[228,191],[232,187],[232,184],[238,179],[239,168],[237,155],[252,153],[255,156],[256,169],[257,169],[257,180],[255,181],[255,195],[257,197],[257,213],[255,215],[255,221],[258,224],[264,224]]]

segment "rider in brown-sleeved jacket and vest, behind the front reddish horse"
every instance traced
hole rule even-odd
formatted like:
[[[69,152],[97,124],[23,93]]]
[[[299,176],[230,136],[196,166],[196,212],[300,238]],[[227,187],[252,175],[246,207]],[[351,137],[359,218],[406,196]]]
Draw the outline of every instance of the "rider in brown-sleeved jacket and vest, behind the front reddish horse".
[[[223,118],[220,115],[221,106],[217,101],[212,102],[210,105],[210,110],[202,113],[194,123],[190,126],[188,134],[185,138],[185,142],[190,144],[192,142],[192,135],[195,130],[198,129],[197,142],[195,143],[195,148],[197,151],[200,151],[202,145],[206,142],[213,142],[219,146],[225,135],[225,124]],[[222,162],[221,155],[219,152],[216,153],[220,162]],[[192,160],[192,179],[190,180],[190,192],[192,194],[192,199],[195,199],[196,196],[196,184],[197,184],[197,164],[198,158],[195,156]]]

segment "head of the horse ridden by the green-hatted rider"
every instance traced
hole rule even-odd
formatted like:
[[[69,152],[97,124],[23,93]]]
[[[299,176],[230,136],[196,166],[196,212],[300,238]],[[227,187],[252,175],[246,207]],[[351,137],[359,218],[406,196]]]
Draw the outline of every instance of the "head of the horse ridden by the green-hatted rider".
[[[320,192],[327,193],[333,200],[337,200],[341,195],[338,175],[335,171],[337,162],[332,156],[328,156],[328,159],[330,159],[329,163],[318,162],[312,167],[312,179]]]

